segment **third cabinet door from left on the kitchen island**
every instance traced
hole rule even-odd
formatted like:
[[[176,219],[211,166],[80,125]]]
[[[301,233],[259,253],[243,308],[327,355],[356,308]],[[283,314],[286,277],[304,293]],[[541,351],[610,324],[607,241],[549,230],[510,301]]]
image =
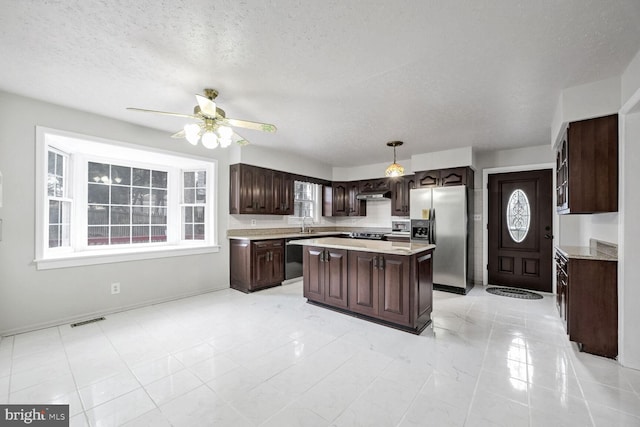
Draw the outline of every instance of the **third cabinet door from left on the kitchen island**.
[[[378,254],[349,251],[349,309],[378,315]]]

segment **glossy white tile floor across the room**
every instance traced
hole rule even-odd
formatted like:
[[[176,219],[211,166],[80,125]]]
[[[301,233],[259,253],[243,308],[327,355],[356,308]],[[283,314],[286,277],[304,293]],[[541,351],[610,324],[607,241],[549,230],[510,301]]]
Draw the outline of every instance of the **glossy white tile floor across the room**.
[[[640,426],[640,372],[578,353],[551,296],[434,292],[420,336],[301,282],[223,290],[0,342],[0,402],[71,426]]]

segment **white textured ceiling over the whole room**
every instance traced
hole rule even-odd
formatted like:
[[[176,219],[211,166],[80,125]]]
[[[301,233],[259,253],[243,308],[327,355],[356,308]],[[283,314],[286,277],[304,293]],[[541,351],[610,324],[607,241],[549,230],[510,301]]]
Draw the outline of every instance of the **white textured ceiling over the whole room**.
[[[166,130],[193,95],[334,166],[546,144],[563,88],[618,76],[638,0],[0,0],[0,89]]]

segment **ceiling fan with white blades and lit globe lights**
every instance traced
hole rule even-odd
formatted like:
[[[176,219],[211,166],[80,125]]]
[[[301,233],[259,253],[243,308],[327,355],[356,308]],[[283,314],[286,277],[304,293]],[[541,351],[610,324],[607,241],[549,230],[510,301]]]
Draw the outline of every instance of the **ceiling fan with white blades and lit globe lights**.
[[[198,119],[200,123],[187,123],[184,128],[173,135],[172,138],[185,138],[193,145],[202,140],[202,145],[206,148],[214,149],[218,144],[228,147],[232,142],[239,145],[247,145],[249,141],[234,132],[231,127],[239,127],[263,132],[275,132],[276,127],[267,123],[250,122],[248,120],[229,119],[224,110],[218,108],[215,99],[218,91],[215,89],[205,89],[204,96],[196,95],[198,105],[193,108],[193,114],[170,113],[166,111],[145,110],[142,108],[128,107],[127,110],[142,111],[145,113],[165,114],[168,116],[187,117]]]

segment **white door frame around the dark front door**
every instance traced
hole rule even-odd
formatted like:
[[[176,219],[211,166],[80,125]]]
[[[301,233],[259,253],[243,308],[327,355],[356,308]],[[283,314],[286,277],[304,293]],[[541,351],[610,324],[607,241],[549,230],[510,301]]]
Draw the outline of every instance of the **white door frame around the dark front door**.
[[[549,147],[551,151],[551,147]],[[521,165],[521,166],[503,166],[498,168],[485,168],[482,170],[482,284],[487,286],[489,284],[489,175],[506,172],[525,172],[540,169],[551,169],[551,185],[552,185],[552,201],[551,201],[551,214],[553,215],[553,243],[555,247],[557,245],[558,236],[560,231],[558,230],[558,215],[554,210],[556,206],[556,164],[553,163],[538,163],[533,165]],[[556,293],[556,266],[555,262],[551,263],[551,292]]]

